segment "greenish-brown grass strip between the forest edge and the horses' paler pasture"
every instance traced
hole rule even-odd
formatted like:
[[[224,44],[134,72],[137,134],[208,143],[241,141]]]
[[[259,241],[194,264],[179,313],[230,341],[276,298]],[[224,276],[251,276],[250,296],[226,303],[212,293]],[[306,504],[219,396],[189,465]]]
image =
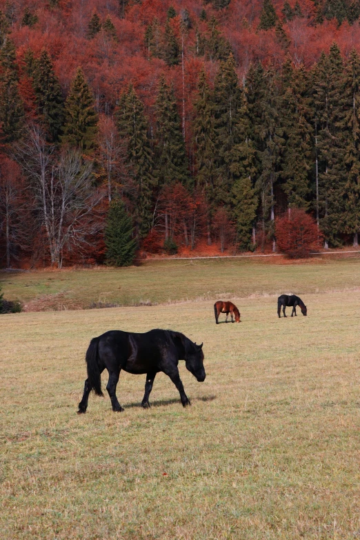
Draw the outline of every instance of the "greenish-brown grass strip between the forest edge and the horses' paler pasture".
[[[4,297],[26,311],[77,310],[95,305],[153,306],[193,299],[305,294],[359,288],[359,257],[307,263],[249,259],[151,261],[139,267],[0,272]]]

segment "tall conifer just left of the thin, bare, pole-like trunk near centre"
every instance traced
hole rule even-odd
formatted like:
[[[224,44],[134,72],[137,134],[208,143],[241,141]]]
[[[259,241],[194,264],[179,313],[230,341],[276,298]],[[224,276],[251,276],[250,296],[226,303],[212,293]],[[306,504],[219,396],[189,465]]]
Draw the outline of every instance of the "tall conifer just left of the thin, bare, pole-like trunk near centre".
[[[156,101],[157,112],[157,163],[159,181],[169,184],[179,181],[189,184],[188,159],[181,122],[177,111],[174,88],[169,88],[161,76]]]

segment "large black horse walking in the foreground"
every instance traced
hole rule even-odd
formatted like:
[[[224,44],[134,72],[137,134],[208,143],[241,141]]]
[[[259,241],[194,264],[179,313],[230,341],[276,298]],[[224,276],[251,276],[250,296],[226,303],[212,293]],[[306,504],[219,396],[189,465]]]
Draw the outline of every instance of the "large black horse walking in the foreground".
[[[78,413],[86,412],[88,398],[91,390],[102,396],[101,373],[106,368],[109,372],[108,390],[112,410],[122,411],[117,401],[117,382],[120,371],[133,374],[145,374],[145,394],[141,405],[150,407],[149,395],[156,374],[160,371],[166,373],[180,393],[183,407],[190,405],[190,400],[183,389],[177,365],[179,360],[185,360],[186,368],[199,382],[205,380],[206,373],[203,367],[203,343],[197,345],[180,332],[172,330],[150,330],[143,334],[110,330],[90,341],[86,352],[88,366],[88,379],[85,381],[83,399],[79,403]]]

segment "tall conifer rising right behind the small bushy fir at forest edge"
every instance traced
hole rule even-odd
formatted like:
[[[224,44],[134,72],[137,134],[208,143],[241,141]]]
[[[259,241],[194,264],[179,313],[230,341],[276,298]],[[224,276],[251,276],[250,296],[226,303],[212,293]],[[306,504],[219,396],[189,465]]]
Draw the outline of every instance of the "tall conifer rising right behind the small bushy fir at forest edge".
[[[132,86],[121,96],[117,128],[120,137],[126,142],[126,155],[134,183],[134,190],[129,193],[129,197],[134,205],[137,236],[143,238],[151,227],[152,189],[156,186],[157,179],[148,139],[148,121],[143,112],[143,104]]]

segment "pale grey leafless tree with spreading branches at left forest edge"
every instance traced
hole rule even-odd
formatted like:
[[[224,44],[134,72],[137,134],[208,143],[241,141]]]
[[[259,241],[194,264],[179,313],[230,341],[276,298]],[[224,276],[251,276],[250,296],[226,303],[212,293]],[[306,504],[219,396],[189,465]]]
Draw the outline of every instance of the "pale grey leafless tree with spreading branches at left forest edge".
[[[95,209],[103,192],[93,186],[92,163],[71,149],[58,155],[37,126],[28,128],[15,157],[30,181],[51,263],[61,268],[64,247],[81,248],[101,228]]]

